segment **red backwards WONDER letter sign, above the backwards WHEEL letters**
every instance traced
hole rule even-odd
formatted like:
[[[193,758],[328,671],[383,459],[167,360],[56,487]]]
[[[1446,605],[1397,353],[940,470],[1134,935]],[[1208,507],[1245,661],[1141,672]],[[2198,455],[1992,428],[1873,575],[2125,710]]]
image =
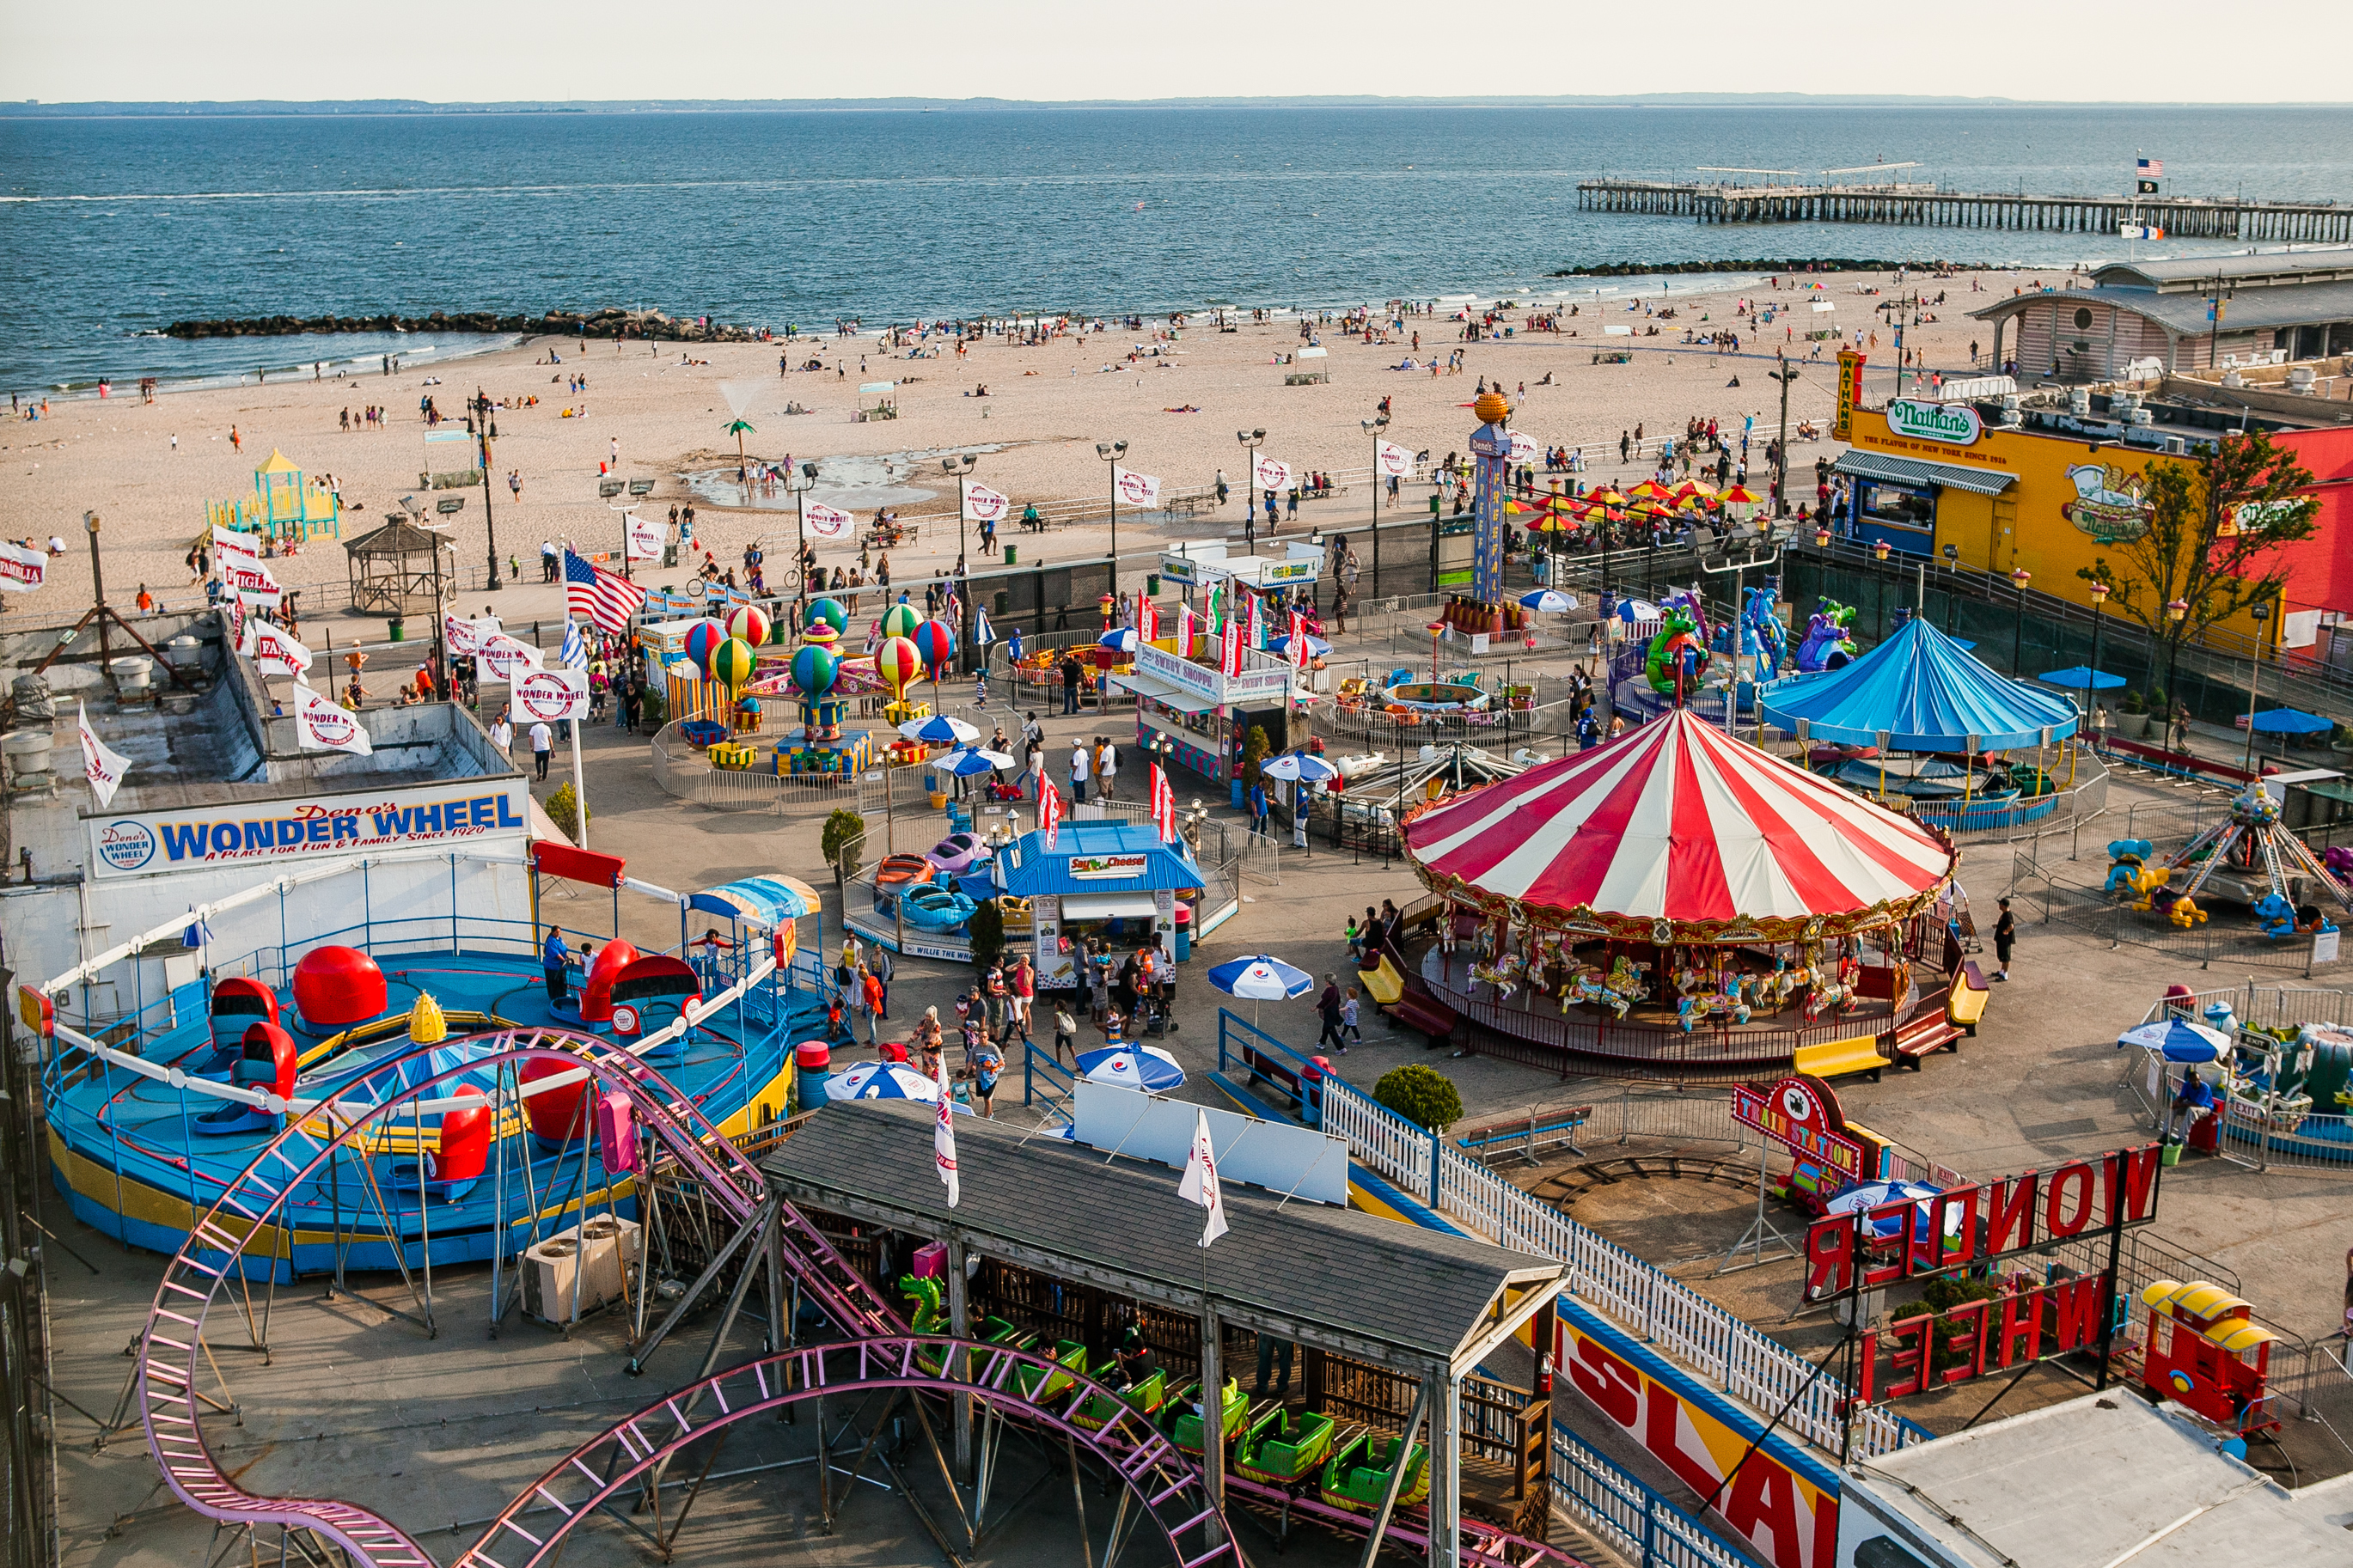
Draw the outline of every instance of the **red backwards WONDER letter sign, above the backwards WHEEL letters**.
[[[2028,1253],[2085,1232],[2148,1225],[2158,1213],[2158,1145],[2071,1159],[1932,1199],[1814,1220],[1805,1232],[1805,1300],[1878,1291],[1899,1279]]]

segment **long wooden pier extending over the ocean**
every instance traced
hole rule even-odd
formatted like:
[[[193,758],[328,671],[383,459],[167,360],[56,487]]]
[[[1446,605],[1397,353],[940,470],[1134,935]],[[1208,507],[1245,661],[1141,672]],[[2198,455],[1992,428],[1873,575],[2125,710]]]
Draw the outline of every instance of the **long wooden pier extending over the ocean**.
[[[2207,202],[2174,195],[2005,195],[1939,190],[1929,183],[1875,186],[1699,186],[1642,179],[1588,179],[1586,212],[1633,212],[1697,223],[1911,223],[1920,228],[2040,228],[2113,235],[2151,223],[2167,240],[2348,242],[2353,207],[2334,202]]]

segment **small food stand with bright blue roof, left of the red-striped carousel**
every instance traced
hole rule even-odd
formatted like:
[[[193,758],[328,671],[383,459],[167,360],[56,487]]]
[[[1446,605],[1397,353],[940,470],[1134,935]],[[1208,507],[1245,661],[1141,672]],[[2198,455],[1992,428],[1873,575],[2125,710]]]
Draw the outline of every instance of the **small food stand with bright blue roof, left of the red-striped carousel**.
[[[1202,891],[1184,842],[1162,844],[1134,823],[1061,823],[1052,846],[1042,832],[1024,832],[998,851],[995,879],[1009,898],[1028,900],[1040,990],[1073,990],[1075,954],[1094,936],[1120,950],[1160,947],[1169,961],[1186,957],[1176,905]]]

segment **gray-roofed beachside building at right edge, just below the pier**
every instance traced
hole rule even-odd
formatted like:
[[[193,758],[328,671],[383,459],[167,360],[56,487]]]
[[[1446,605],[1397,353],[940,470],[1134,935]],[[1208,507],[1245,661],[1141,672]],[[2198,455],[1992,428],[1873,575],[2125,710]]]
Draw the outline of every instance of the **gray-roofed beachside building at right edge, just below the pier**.
[[[2106,381],[2353,353],[2353,249],[2212,261],[2111,261],[2089,289],[2014,294],[1984,310],[1988,364],[2021,378]]]

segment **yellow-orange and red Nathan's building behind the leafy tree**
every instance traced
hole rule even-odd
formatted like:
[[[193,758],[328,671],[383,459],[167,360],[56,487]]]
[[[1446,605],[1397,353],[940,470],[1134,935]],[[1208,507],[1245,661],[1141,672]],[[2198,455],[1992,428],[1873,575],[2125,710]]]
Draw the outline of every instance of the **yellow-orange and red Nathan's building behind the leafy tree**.
[[[1838,522],[1866,548],[1887,541],[1892,559],[1995,576],[2024,567],[2038,592],[2092,604],[2075,574],[2101,557],[2122,564],[2118,545],[2148,527],[2148,475],[2195,461],[2226,430],[2268,428],[2313,470],[2320,498],[2313,536],[2282,545],[2287,611],[2308,616],[2287,623],[2287,646],[2304,646],[2299,637],[2334,621],[2332,611],[2353,614],[2353,423],[2334,423],[2353,409],[2268,397],[2273,407],[2249,411],[2209,395],[2228,397],[2169,376],[2155,397],[2075,390],[2064,409],[1904,397],[1857,409],[1852,449],[1835,463],[1849,482]],[[2254,630],[2252,621],[2233,625]]]

